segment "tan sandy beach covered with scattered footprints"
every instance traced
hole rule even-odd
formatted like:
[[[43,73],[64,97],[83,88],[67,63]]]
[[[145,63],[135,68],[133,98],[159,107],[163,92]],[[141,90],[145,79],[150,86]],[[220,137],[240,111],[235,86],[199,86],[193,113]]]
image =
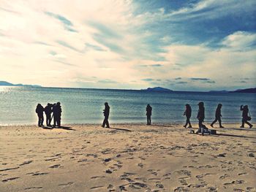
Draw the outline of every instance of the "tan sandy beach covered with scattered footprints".
[[[256,129],[0,126],[0,191],[256,191]]]

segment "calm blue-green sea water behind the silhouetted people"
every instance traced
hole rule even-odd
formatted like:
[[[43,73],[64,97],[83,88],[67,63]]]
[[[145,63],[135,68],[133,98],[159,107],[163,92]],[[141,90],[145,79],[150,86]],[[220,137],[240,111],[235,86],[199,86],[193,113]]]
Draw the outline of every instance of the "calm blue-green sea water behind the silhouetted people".
[[[249,106],[256,119],[255,93],[200,93],[106,90],[86,88],[33,88],[0,86],[0,125],[36,124],[35,108],[40,103],[61,102],[62,123],[102,123],[105,101],[110,105],[110,123],[146,123],[146,105],[151,104],[152,123],[185,122],[185,104],[192,107],[197,122],[198,102],[204,101],[206,122],[214,120],[217,104],[222,103],[222,121],[241,122],[241,104]]]

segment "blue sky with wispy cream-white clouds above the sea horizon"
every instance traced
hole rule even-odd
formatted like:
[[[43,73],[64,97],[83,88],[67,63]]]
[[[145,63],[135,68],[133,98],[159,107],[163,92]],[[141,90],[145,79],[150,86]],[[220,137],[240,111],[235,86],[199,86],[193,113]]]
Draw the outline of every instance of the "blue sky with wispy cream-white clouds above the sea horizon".
[[[69,88],[253,88],[255,7],[255,0],[1,0],[0,80]]]

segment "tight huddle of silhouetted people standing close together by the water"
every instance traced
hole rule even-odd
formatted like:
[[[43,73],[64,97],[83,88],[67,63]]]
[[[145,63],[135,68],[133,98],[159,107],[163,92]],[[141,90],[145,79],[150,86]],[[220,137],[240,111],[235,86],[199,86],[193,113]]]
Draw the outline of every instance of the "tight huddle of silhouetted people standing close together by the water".
[[[51,126],[51,120],[53,120],[53,128],[58,126],[61,127],[61,103],[58,102],[56,104],[48,103],[47,106],[42,107],[42,104],[37,104],[36,113],[38,116],[38,126],[44,126],[44,112],[46,116],[46,125]],[[53,115],[52,115],[53,113]]]

